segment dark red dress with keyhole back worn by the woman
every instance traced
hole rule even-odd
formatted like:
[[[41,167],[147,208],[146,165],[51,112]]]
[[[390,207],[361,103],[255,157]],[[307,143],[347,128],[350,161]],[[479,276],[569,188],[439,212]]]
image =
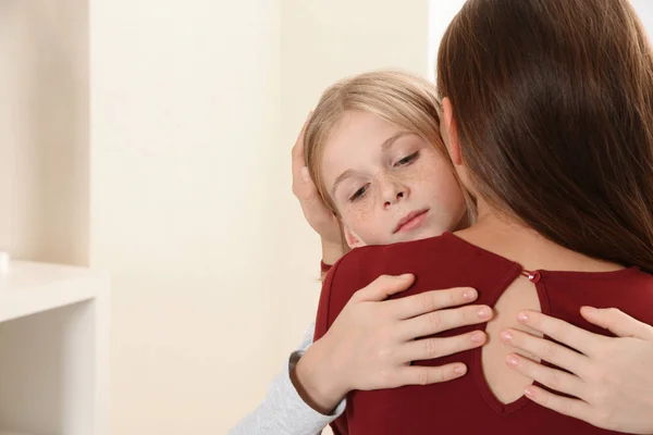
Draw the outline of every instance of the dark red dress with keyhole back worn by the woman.
[[[493,307],[522,268],[495,253],[445,233],[440,237],[358,248],[330,271],[320,296],[316,339],[322,337],[352,295],[379,275],[415,274],[414,286],[399,294],[406,297],[435,288],[470,286],[478,290],[478,303]],[[653,276],[637,268],[616,272],[537,271],[542,312],[594,333],[605,330],[584,321],[580,307],[616,307],[653,324]],[[537,283],[534,283],[537,282]],[[460,327],[438,336],[453,336],[484,324]],[[483,376],[481,349],[416,364],[442,365],[461,361],[469,373],[458,380],[428,386],[352,391],[347,409],[332,427],[335,434],[373,435],[564,435],[614,433],[551,411],[526,397],[504,405],[491,391]]]

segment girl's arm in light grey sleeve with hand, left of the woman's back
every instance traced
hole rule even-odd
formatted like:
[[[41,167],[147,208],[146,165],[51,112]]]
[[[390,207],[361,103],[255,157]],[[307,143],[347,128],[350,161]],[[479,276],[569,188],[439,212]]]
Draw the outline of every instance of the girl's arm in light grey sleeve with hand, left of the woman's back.
[[[465,375],[467,368],[461,363],[426,368],[410,366],[410,361],[482,346],[484,333],[419,337],[488,322],[492,311],[485,306],[464,306],[478,297],[471,288],[431,290],[385,300],[412,282],[412,275],[380,276],[354,295],[313,345],[311,325],[299,349],[272,382],[263,402],[230,435],[316,435],[343,412],[343,398],[350,390],[432,384]],[[396,331],[405,334],[397,335]]]

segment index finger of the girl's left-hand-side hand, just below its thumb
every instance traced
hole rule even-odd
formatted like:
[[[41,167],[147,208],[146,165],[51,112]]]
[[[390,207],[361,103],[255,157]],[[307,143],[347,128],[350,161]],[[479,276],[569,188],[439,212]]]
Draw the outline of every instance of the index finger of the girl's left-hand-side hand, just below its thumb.
[[[419,295],[393,300],[392,309],[398,319],[410,319],[443,308],[458,307],[478,298],[478,293],[469,287],[454,287],[446,290],[431,290]]]

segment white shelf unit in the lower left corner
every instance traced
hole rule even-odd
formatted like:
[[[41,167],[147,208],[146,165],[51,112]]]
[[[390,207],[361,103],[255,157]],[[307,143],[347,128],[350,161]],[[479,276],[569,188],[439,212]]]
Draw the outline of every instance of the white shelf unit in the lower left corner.
[[[107,435],[109,277],[14,261],[0,275],[0,435]]]

